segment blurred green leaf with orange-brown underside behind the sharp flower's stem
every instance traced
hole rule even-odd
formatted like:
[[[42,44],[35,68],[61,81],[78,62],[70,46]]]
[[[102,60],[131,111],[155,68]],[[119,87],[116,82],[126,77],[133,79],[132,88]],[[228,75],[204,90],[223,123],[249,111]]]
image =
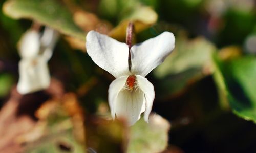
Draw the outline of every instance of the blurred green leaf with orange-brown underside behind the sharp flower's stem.
[[[139,33],[155,24],[158,18],[157,13],[151,7],[134,0],[103,0],[100,8],[102,12],[105,12],[104,15],[109,14],[108,17],[118,19],[118,25],[109,35],[119,41],[125,41],[126,28],[130,21],[134,23],[135,32]]]

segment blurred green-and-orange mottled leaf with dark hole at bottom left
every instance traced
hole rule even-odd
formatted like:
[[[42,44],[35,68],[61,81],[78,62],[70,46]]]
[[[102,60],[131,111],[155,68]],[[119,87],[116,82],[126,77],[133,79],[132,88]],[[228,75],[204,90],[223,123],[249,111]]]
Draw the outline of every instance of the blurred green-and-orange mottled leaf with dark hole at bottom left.
[[[86,152],[83,138],[82,117],[73,94],[66,94],[62,101],[48,101],[36,111],[38,124],[20,137],[25,141],[27,153]],[[76,113],[76,118],[71,114]]]

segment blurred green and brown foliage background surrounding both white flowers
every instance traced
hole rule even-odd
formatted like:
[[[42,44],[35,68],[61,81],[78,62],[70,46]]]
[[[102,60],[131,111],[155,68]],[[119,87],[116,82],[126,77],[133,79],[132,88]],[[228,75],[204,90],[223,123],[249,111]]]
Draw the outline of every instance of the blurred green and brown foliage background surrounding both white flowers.
[[[0,152],[256,152],[253,0],[7,0],[0,12]],[[176,47],[147,78],[150,123],[112,122],[114,80],[87,55],[86,33],[136,43],[173,32]],[[17,42],[33,23],[61,36],[47,90],[20,95]]]

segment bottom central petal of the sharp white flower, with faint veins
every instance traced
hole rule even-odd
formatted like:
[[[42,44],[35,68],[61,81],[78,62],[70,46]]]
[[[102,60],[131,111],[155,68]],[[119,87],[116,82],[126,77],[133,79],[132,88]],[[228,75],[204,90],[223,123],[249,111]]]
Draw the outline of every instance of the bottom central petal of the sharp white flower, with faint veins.
[[[140,119],[145,111],[145,98],[141,90],[121,90],[116,101],[116,116],[118,119],[126,119],[129,126]]]

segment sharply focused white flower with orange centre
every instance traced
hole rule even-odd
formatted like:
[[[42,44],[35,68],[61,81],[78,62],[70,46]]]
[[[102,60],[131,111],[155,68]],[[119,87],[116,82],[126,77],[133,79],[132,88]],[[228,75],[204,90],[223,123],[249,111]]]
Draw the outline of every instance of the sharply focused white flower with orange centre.
[[[132,46],[131,70],[129,70],[129,47],[111,37],[90,31],[86,37],[87,53],[102,69],[116,79],[110,84],[109,105],[115,119],[124,118],[129,125],[144,120],[152,110],[155,98],[154,86],[145,76],[161,64],[175,46],[173,33],[163,32],[155,38]]]

